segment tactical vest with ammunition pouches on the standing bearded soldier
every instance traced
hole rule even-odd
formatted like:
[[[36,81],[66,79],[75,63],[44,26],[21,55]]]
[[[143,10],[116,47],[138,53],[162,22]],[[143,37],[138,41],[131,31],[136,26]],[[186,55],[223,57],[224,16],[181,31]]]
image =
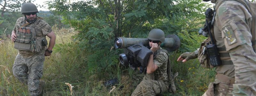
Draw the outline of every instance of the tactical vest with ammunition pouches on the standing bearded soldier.
[[[42,49],[41,41],[43,40],[44,43],[47,43],[45,36],[42,38],[36,38],[36,32],[34,27],[40,20],[40,18],[37,18],[37,20],[34,23],[26,23],[20,26],[18,30],[16,30],[17,37],[14,42],[15,49],[22,51],[40,52],[40,50]],[[30,26],[26,27],[27,25]]]

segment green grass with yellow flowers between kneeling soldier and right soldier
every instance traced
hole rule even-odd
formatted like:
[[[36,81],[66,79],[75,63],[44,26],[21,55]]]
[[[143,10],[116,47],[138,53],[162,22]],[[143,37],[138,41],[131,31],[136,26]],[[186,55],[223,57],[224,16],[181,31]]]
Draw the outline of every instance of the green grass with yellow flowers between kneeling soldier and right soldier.
[[[177,81],[175,82],[177,93],[174,96],[201,96],[208,89],[208,84],[214,81],[214,69],[206,69],[199,67],[198,60],[189,60],[187,62],[177,62],[176,56],[173,58],[173,72],[179,72]],[[172,59],[171,59],[172,60]],[[167,95],[166,95],[167,96]]]

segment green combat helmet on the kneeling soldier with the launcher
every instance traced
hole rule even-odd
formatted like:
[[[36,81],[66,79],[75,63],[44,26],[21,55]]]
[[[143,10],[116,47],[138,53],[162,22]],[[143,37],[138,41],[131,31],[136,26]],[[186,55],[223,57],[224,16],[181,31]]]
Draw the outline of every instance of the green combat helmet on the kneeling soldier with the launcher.
[[[148,39],[164,42],[164,31],[161,29],[152,29],[148,34]]]

